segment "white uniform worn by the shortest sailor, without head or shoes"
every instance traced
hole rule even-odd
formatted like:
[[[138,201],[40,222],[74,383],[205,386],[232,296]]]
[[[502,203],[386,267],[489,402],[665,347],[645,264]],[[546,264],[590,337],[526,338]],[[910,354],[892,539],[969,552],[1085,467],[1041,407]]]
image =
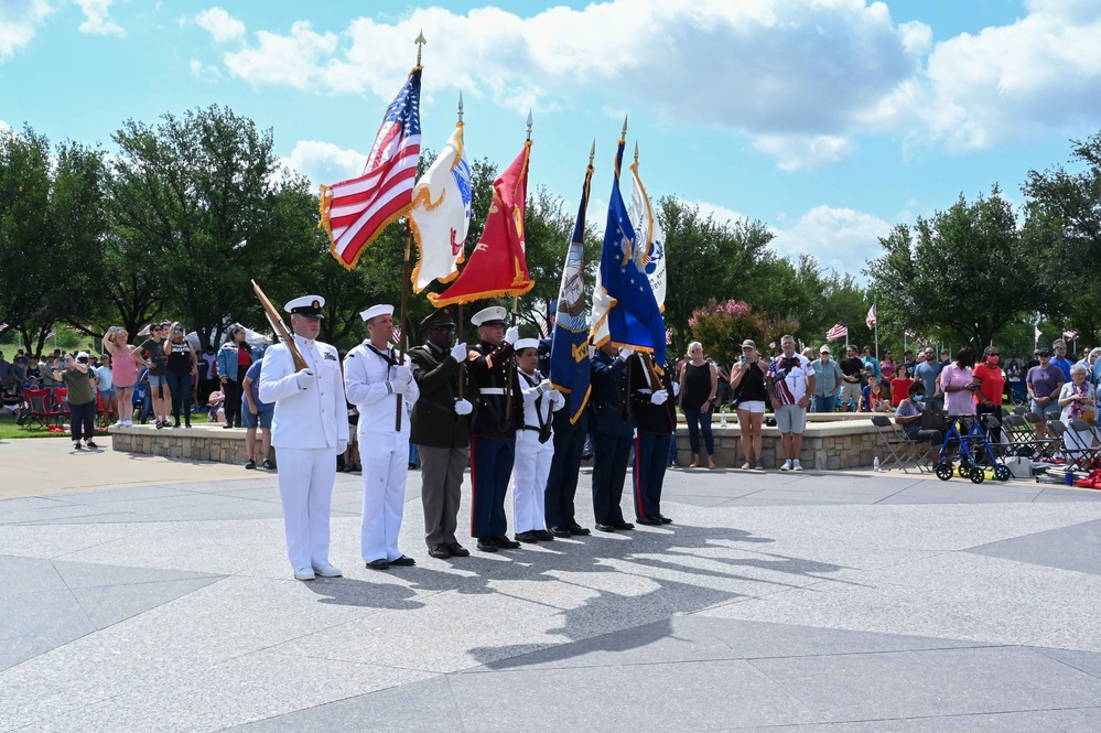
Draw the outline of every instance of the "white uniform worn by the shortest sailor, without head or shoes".
[[[522,339],[521,339],[522,341]],[[516,370],[523,394],[523,429],[516,431],[516,462],[512,464],[512,525],[517,533],[538,531],[546,527],[543,492],[554,457],[551,412],[562,409],[565,398],[555,389],[540,389],[543,375],[537,369],[527,374]],[[547,442],[539,442],[539,425],[546,425]]]

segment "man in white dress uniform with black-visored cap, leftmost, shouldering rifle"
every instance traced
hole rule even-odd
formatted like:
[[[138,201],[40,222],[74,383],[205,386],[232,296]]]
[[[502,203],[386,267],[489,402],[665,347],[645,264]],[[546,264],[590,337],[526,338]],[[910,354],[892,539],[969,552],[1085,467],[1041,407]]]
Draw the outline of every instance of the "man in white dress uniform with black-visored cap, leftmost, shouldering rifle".
[[[317,341],[324,305],[321,295],[304,295],[283,306],[304,368],[295,368],[283,343],[269,348],[260,366],[259,397],[276,406],[271,445],[279,456],[287,556],[303,581],[342,574],[328,561],[328,516],[336,456],[348,446],[347,401],[336,348]]]

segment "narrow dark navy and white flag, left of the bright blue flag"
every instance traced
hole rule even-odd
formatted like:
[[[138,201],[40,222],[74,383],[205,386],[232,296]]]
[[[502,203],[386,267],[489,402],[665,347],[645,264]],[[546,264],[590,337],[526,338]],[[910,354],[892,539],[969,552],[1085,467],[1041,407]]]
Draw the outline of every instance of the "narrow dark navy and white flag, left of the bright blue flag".
[[[554,389],[566,395],[570,422],[575,423],[589,402],[589,319],[585,310],[585,212],[589,209],[589,183],[593,166],[585,171],[581,204],[573,225],[573,238],[562,268],[558,291],[558,313],[551,337],[550,379]]]

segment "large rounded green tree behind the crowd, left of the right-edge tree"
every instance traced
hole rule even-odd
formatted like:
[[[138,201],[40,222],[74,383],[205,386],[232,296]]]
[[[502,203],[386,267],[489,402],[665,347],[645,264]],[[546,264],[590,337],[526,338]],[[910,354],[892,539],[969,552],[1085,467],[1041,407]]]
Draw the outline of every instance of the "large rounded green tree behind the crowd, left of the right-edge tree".
[[[969,203],[963,195],[913,229],[881,237],[884,254],[864,272],[881,322],[985,345],[1023,314],[1040,310],[1051,288],[1039,281],[1044,254],[1025,242],[1013,208],[995,185]]]

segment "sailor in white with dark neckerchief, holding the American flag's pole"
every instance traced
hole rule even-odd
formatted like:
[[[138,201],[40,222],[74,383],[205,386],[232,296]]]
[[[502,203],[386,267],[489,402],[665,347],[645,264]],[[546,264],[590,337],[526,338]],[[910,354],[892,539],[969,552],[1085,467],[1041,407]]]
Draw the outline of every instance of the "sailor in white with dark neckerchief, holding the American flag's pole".
[[[409,419],[406,402],[417,405],[420,389],[409,356],[400,360],[390,346],[393,306],[375,305],[359,314],[367,341],[344,357],[348,401],[359,410],[359,455],[363,459],[364,508],[359,550],[373,570],[417,564],[398,549],[409,473]],[[397,424],[397,416],[401,424]]]

